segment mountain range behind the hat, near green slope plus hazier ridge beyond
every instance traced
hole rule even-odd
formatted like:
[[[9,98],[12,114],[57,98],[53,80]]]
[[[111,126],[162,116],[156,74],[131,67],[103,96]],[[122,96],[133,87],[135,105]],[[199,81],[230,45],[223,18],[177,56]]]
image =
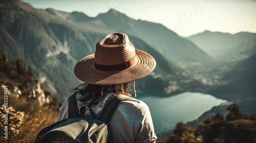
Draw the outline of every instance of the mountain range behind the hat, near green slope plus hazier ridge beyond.
[[[35,9],[27,3],[16,0],[1,1],[0,7],[2,9],[0,49],[6,51],[10,59],[23,59],[25,63],[31,65],[39,81],[44,83],[43,85],[52,94],[62,99],[69,94],[68,89],[81,83],[73,74],[76,62],[94,53],[95,44],[109,33],[126,32],[136,49],[148,52],[155,57],[157,67],[154,73],[136,84],[139,92],[193,90],[194,87],[190,85],[197,86],[201,83],[193,79],[187,71],[176,66],[175,62],[180,60],[199,62],[200,56],[205,58],[201,60],[203,62],[211,61],[211,58],[193,42],[178,36],[162,25],[134,20],[115,10],[92,18],[79,12],[66,13],[53,9]],[[113,19],[108,20],[111,17]],[[109,23],[110,20],[115,22]],[[133,26],[126,28],[127,23],[133,23],[129,24]],[[116,28],[113,29],[112,24],[120,27],[113,25]],[[151,29],[152,32],[150,32]],[[131,31],[136,33],[132,34]],[[161,35],[161,32],[164,32],[165,36]],[[147,35],[152,36],[146,39]],[[175,44],[170,46],[170,40],[174,39]],[[164,52],[159,50],[160,47],[163,47],[161,49]]]

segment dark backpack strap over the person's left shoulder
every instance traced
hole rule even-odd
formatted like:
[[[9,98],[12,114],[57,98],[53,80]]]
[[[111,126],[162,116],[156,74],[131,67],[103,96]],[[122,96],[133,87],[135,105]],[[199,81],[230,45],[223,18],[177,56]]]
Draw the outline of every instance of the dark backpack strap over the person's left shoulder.
[[[77,107],[77,100],[76,100],[76,94],[78,91],[73,93],[69,98],[69,112],[68,112],[68,118],[75,118],[79,117],[79,109]]]

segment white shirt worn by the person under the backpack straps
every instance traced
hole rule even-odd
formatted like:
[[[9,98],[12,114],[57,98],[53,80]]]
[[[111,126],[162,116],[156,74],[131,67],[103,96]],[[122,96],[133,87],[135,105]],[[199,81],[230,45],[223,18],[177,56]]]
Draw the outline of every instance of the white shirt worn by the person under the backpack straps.
[[[73,93],[71,93],[70,96],[72,94]],[[70,96],[63,102],[59,110],[58,121],[68,118],[68,102]],[[112,96],[113,93],[109,93],[104,97],[102,102],[91,107],[97,117],[99,117],[105,103],[108,102]],[[79,110],[81,106],[90,103],[90,101],[79,101],[85,98],[85,96],[79,92],[77,93],[76,98],[78,99],[77,106]],[[84,113],[84,117],[91,117],[88,109]],[[154,142],[157,139],[154,132],[150,109],[148,109],[148,106],[143,101],[135,98],[122,101],[118,105],[109,125],[111,126],[114,142]]]

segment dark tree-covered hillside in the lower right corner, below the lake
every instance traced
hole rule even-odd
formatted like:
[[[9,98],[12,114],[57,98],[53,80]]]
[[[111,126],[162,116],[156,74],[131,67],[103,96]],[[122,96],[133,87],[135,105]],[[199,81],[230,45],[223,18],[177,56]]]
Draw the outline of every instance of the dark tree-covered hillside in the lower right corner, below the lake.
[[[187,123],[176,124],[173,134],[158,142],[193,143],[251,143],[256,142],[256,115],[243,114],[236,104],[227,107],[228,113],[206,118],[196,128]]]

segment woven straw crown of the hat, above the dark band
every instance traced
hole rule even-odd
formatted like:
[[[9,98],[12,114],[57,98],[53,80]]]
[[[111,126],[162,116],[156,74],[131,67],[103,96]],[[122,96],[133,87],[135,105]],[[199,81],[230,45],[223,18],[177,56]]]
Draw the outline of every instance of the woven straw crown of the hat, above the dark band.
[[[100,65],[117,65],[134,59],[133,44],[124,33],[106,35],[96,44],[94,62]]]

